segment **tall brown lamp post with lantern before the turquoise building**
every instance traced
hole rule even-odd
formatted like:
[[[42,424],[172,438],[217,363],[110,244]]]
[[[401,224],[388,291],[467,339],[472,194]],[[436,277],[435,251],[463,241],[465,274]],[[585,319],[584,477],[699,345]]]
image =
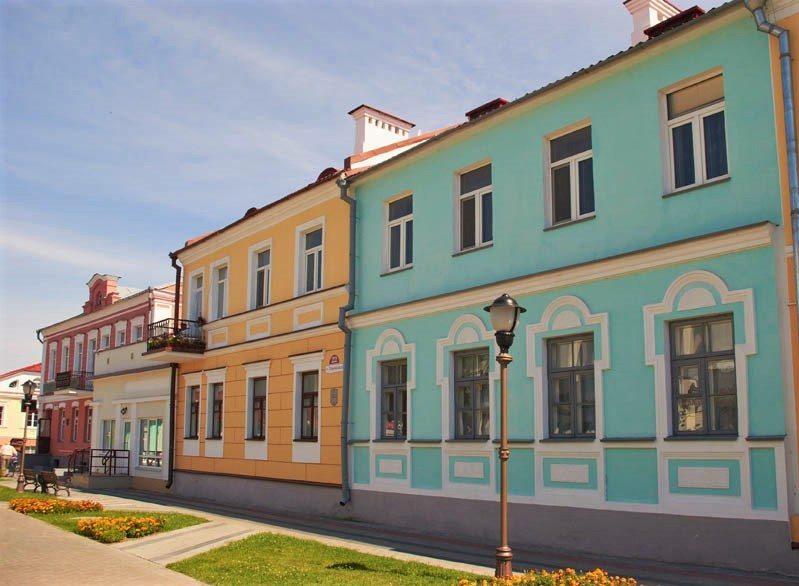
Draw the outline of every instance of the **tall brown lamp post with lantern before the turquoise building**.
[[[527,311],[516,300],[503,293],[494,303],[483,308],[491,315],[491,326],[494,328],[499,354],[497,362],[500,368],[500,436],[499,436],[499,533],[500,545],[496,554],[497,578],[513,577],[513,551],[508,545],[508,364],[513,358],[508,350],[513,344],[513,330],[519,322],[519,314]]]

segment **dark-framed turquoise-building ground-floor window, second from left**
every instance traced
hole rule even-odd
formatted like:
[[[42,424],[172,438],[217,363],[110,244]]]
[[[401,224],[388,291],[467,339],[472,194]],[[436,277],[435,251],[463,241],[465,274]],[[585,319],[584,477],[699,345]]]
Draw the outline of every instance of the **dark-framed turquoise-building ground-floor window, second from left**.
[[[455,439],[488,439],[488,350],[455,353]]]

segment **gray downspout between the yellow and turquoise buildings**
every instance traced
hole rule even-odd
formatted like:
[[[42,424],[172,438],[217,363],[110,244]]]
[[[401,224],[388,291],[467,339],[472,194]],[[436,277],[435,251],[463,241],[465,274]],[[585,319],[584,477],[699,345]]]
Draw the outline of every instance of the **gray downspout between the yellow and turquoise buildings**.
[[[347,285],[347,305],[338,310],[338,327],[344,332],[344,380],[341,389],[341,500],[343,507],[350,502],[350,464],[349,464],[349,409],[350,409],[350,370],[352,358],[352,330],[347,326],[347,312],[355,307],[355,199],[347,195],[350,185],[344,171],[336,183],[341,190],[339,197],[350,206],[350,262],[349,284]]]

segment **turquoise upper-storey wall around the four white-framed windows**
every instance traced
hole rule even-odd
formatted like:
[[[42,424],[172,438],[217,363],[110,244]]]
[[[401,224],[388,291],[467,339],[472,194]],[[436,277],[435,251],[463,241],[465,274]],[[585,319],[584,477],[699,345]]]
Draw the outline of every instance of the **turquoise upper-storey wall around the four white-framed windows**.
[[[767,36],[742,14],[469,139],[356,178],[355,313],[763,220],[779,223],[767,63]],[[716,67],[724,73],[731,179],[663,198],[659,91]],[[543,137],[585,119],[592,124],[596,218],[545,231]],[[494,243],[453,257],[453,174],[484,159],[493,165]],[[407,190],[414,194],[414,266],[381,277],[376,244],[383,242],[384,201]]]

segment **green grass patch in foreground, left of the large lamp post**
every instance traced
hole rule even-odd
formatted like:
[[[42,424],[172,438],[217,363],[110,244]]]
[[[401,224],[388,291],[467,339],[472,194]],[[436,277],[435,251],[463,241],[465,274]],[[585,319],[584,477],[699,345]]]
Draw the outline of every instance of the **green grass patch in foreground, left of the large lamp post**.
[[[207,584],[440,586],[455,584],[460,577],[478,578],[273,533],[253,535],[167,567]]]

